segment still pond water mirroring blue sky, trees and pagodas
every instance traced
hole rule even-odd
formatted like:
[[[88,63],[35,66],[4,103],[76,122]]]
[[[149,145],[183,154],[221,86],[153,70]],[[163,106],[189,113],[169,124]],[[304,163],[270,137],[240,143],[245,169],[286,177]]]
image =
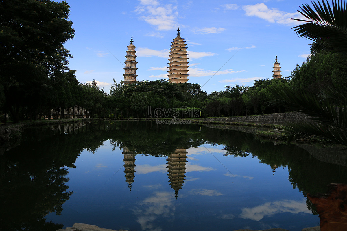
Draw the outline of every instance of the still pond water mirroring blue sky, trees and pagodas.
[[[30,128],[0,158],[2,230],[299,231],[319,225],[305,195],[347,183],[296,145],[196,124]]]

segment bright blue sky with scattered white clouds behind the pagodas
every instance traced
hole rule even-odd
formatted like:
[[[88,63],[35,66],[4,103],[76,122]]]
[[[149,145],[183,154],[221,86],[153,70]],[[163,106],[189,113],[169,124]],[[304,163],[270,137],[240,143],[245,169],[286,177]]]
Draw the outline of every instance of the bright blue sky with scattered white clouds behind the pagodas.
[[[187,44],[188,82],[203,91],[253,86],[272,78],[277,55],[288,77],[310,54],[311,41],[293,27],[297,9],[310,0],[66,0],[75,37],[64,46],[79,82],[98,81],[109,94],[124,80],[127,46],[133,36],[137,80],[168,79],[169,49],[180,28]]]

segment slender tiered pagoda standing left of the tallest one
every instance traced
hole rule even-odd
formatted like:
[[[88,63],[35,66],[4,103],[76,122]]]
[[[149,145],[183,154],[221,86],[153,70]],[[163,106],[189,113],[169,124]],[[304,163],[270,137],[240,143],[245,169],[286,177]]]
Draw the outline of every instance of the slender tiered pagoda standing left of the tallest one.
[[[125,72],[124,72],[124,84],[127,83],[134,83],[136,81],[136,58],[137,56],[135,55],[136,51],[135,51],[135,47],[133,45],[133,36],[131,37],[130,40],[130,45],[127,46],[128,50],[127,50],[127,55],[125,56],[127,58],[127,60],[125,61]]]

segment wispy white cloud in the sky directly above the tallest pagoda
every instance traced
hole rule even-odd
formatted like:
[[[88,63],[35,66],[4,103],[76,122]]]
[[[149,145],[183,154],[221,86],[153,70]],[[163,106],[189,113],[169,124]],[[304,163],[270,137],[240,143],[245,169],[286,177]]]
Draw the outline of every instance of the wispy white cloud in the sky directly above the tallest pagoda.
[[[178,27],[177,6],[160,5],[156,0],[140,0],[140,3],[135,12],[141,15],[141,20],[155,26],[157,30],[172,30]]]

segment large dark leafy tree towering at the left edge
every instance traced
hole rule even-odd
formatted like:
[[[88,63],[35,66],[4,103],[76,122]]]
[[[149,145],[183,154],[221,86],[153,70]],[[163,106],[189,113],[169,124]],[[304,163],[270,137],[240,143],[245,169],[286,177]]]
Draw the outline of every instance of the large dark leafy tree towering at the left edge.
[[[0,3],[0,83],[5,110],[15,123],[20,110],[32,108],[57,71],[72,57],[63,43],[74,37],[66,2],[12,0]],[[27,102],[23,105],[23,98]],[[28,104],[27,104],[28,103]]]

